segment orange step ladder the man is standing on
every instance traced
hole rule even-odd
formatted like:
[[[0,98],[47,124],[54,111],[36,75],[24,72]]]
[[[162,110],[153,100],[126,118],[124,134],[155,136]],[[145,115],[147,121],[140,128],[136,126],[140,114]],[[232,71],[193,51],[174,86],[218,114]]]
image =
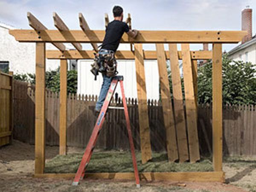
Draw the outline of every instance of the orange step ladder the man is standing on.
[[[109,107],[110,102],[111,102],[111,98],[113,96],[113,93],[116,90],[116,86],[117,86],[118,82],[120,83],[120,87],[121,87],[123,107]],[[119,109],[124,109],[124,111],[125,111],[125,120],[126,120],[128,137],[129,137],[129,142],[130,142],[131,156],[132,156],[133,166],[134,166],[134,176],[135,176],[135,181],[136,181],[137,187],[140,187],[140,179],[139,179],[139,172],[138,172],[137,161],[136,161],[136,156],[135,156],[134,143],[133,143],[132,135],[131,135],[130,119],[129,119],[129,115],[128,115],[127,104],[126,104],[126,101],[125,101],[123,76],[115,76],[113,78],[113,80],[111,81],[111,85],[109,87],[107,96],[106,96],[105,101],[103,103],[102,109],[99,113],[96,124],[93,128],[93,132],[91,134],[91,137],[90,137],[90,140],[87,144],[87,147],[84,151],[84,155],[82,157],[80,166],[79,166],[79,168],[76,172],[76,176],[75,176],[75,179],[74,179],[72,185],[78,185],[79,181],[84,178],[86,167],[88,166],[90,158],[92,157],[93,149],[96,145],[96,141],[97,141],[97,138],[99,136],[100,130],[102,129],[102,125],[103,125],[103,122],[105,120],[105,115],[106,115],[106,112],[107,112],[108,108],[119,108]]]

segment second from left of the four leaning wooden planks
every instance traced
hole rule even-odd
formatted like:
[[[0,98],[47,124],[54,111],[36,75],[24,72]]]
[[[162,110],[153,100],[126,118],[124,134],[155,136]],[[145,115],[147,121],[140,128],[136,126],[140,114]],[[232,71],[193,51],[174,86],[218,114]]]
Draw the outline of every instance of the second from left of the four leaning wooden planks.
[[[177,140],[175,132],[174,114],[172,111],[172,99],[167,75],[166,57],[163,44],[156,44],[157,64],[160,79],[160,92],[163,106],[163,119],[166,128],[166,146],[168,160],[174,162],[178,157]]]

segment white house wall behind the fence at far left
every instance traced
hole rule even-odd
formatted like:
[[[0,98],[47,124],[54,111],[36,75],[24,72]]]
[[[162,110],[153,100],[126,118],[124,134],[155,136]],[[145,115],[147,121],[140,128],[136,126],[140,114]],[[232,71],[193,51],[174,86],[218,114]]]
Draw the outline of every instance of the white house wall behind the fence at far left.
[[[35,73],[35,43],[19,43],[9,29],[14,27],[0,23],[0,70],[9,67],[14,73]],[[56,49],[47,44],[47,49]],[[59,60],[46,61],[47,70],[54,70],[59,66]]]

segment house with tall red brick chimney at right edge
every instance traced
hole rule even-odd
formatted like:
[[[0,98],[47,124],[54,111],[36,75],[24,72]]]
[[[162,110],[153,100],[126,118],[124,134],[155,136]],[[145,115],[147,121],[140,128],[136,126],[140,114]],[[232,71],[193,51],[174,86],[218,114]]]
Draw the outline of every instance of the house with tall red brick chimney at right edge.
[[[242,11],[242,30],[248,32],[242,43],[228,52],[234,61],[244,61],[256,64],[256,35],[252,36],[252,9]]]

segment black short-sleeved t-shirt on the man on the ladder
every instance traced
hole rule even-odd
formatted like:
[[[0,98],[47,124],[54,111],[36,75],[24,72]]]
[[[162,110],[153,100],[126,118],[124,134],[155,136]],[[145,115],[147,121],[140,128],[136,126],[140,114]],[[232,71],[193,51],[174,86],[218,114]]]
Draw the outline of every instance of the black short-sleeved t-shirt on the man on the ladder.
[[[129,27],[125,22],[119,20],[111,21],[106,28],[106,34],[101,48],[116,52],[122,35],[129,30]]]

